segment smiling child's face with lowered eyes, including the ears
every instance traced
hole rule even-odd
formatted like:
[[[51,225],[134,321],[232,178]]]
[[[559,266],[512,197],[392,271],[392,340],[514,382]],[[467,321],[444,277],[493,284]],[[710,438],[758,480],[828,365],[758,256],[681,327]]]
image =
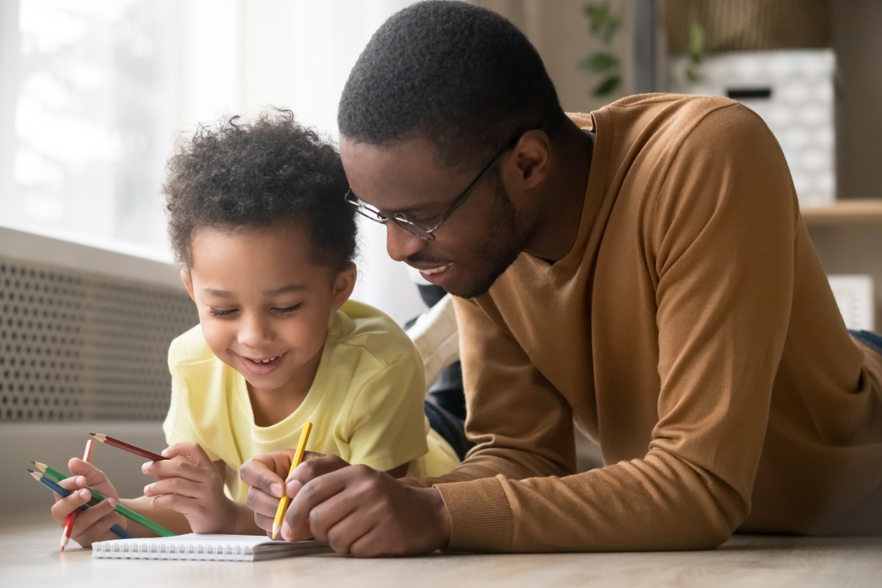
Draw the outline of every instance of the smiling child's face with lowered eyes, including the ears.
[[[299,226],[282,223],[198,230],[182,277],[209,348],[252,392],[305,395],[328,318],[355,285],[355,266],[338,273],[315,265]]]

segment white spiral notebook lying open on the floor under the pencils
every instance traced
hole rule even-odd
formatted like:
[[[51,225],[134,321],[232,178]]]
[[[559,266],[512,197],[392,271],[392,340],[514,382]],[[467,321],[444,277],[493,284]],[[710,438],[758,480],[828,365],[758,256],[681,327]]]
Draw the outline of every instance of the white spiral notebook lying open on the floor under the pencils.
[[[263,535],[187,533],[176,537],[115,539],[92,544],[93,558],[258,562],[295,555],[331,553],[315,541],[289,543]]]

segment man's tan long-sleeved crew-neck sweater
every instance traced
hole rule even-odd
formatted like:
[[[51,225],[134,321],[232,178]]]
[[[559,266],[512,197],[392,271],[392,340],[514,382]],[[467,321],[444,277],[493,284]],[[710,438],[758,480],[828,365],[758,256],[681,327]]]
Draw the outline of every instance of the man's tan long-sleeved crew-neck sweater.
[[[478,445],[422,480],[450,548],[882,532],[882,357],[848,335],[766,125],[669,94],[572,118],[596,132],[572,250],[457,300]],[[572,475],[573,419],[604,467]]]

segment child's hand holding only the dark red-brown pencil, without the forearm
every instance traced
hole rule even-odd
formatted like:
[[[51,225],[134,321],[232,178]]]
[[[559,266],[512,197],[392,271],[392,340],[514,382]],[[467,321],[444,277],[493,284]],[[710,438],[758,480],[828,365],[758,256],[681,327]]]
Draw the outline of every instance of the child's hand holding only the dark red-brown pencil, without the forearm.
[[[183,515],[193,532],[224,532],[235,527],[235,502],[223,492],[218,466],[198,443],[175,443],[162,452],[168,460],[148,462],[141,471],[158,481],[144,487],[153,508]]]

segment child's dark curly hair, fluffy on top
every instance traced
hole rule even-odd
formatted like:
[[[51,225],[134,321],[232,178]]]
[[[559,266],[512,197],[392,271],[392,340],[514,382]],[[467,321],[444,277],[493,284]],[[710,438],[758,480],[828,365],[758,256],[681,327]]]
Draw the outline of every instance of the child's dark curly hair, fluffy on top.
[[[290,110],[201,126],[168,160],[163,185],[168,236],[177,262],[192,265],[192,237],[204,228],[268,227],[295,222],[311,256],[337,270],[355,257],[355,211],[340,154]]]

